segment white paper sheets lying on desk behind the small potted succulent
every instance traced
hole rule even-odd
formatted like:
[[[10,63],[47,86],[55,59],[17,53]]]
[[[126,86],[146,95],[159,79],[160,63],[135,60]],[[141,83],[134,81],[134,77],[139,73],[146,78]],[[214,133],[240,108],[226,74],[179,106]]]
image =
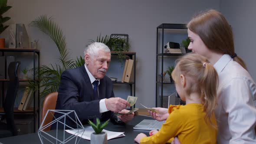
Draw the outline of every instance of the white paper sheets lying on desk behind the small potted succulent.
[[[75,134],[78,135],[79,137],[82,137],[86,140],[91,140],[91,134],[94,132],[93,128],[87,127],[85,128],[84,133],[82,133],[81,131],[83,131],[82,128],[80,129],[75,129],[75,130],[65,130],[66,132],[68,132],[69,134]],[[107,139],[110,140],[112,138],[116,138],[116,137],[124,137],[125,136],[125,132],[115,132],[115,131],[107,131],[105,129],[103,129],[102,131],[107,133]]]

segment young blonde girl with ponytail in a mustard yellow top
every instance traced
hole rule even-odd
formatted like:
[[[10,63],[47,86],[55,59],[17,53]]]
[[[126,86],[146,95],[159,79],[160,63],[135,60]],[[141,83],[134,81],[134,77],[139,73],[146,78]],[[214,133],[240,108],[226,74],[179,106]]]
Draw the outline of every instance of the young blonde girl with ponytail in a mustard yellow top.
[[[177,93],[186,105],[170,105],[166,122],[150,137],[141,133],[140,144],[165,144],[178,137],[181,144],[216,144],[218,75],[206,58],[197,54],[183,56],[171,74]]]

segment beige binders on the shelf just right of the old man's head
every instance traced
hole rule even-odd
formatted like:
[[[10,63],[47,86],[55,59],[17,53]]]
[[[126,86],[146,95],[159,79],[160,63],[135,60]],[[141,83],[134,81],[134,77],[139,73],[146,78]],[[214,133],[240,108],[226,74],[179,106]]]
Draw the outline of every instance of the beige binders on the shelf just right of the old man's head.
[[[125,69],[122,76],[122,82],[133,82],[133,76],[134,76],[134,60],[126,59]]]

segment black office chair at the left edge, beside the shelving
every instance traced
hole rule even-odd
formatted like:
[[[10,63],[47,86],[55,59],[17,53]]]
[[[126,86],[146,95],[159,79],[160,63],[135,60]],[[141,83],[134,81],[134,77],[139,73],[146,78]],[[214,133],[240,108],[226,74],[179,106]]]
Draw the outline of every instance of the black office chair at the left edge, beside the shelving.
[[[8,67],[8,75],[10,81],[3,102],[4,118],[6,123],[0,124],[0,138],[16,136],[18,134],[17,128],[14,124],[14,102],[19,88],[18,68],[20,62],[11,62]]]

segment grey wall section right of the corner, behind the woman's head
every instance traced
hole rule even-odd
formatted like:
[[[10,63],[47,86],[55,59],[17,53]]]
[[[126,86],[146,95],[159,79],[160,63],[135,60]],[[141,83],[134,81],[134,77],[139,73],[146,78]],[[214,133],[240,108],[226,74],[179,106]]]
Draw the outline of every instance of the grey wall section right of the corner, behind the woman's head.
[[[256,0],[221,0],[220,6],[233,29],[235,52],[244,60],[249,73],[256,80]]]

